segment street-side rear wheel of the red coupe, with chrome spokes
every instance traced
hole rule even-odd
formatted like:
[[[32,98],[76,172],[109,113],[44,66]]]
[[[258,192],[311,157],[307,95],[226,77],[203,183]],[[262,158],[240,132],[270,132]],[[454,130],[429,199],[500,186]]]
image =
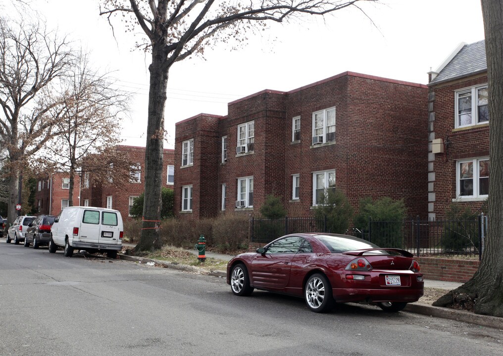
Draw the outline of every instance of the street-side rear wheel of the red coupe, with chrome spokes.
[[[325,313],[333,306],[332,287],[328,279],[319,273],[309,277],[304,287],[306,305],[315,313]]]

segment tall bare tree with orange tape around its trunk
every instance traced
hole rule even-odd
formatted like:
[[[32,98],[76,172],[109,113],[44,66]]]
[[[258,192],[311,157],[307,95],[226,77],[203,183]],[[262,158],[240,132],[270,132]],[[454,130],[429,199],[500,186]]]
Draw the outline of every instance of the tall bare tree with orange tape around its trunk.
[[[193,54],[202,54],[218,41],[244,41],[246,32],[300,15],[326,15],[358,3],[378,0],[262,0],[239,2],[214,0],[105,0],[101,15],[124,16],[126,28],[139,25],[146,35],[137,47],[149,50],[150,71],[145,200],[143,229],[137,251],[159,248],[164,105],[171,66]],[[131,17],[129,17],[131,16]]]

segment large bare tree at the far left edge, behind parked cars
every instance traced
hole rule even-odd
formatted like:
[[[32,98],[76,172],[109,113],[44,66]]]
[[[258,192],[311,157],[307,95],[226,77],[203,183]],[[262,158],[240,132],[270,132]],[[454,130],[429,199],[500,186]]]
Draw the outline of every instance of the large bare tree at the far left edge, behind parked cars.
[[[72,61],[65,38],[37,23],[0,17],[0,137],[8,152],[9,222],[27,158],[57,134],[48,111],[60,101],[51,91]]]

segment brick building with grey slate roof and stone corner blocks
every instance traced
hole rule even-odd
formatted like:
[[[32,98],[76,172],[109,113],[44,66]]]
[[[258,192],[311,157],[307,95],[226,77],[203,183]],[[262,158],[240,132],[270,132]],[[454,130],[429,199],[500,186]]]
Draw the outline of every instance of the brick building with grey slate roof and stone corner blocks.
[[[429,74],[429,215],[454,201],[475,212],[489,190],[485,41],[460,44]]]

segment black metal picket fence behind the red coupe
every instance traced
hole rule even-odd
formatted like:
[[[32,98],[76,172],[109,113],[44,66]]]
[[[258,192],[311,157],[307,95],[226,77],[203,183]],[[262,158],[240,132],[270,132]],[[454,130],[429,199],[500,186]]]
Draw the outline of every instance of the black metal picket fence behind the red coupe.
[[[487,216],[472,219],[420,219],[376,221],[369,219],[365,230],[352,228],[347,234],[382,247],[410,251],[416,256],[482,256],[487,235]],[[250,219],[250,242],[267,244],[282,235],[296,232],[330,232],[326,217]]]

